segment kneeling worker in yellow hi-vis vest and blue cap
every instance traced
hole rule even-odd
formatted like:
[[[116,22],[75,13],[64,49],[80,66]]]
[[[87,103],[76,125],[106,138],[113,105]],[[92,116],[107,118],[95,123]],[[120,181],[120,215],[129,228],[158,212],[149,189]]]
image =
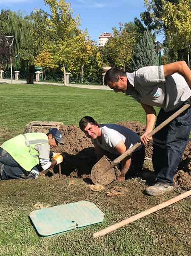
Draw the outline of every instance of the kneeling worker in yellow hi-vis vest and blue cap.
[[[47,170],[62,163],[62,154],[50,151],[58,143],[62,143],[62,134],[57,128],[49,129],[48,134],[20,134],[7,140],[0,145],[0,180],[37,179],[39,165]]]

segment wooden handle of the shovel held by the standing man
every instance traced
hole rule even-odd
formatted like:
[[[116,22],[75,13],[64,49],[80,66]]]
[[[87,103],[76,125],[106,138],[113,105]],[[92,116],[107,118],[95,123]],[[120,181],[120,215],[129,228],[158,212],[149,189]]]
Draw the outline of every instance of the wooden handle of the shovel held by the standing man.
[[[183,111],[185,111],[187,108],[190,107],[190,104],[185,104],[183,105],[182,108],[180,108],[178,111],[176,111],[173,115],[171,115],[170,117],[168,117],[164,122],[162,122],[160,125],[158,125],[156,128],[154,128],[154,130],[152,130],[149,134],[148,137],[152,137],[154,134],[157,133],[157,131],[160,131],[160,129],[162,129],[165,125],[167,125],[169,122],[171,122],[174,118],[176,118],[177,116],[179,116]],[[113,161],[113,165],[116,165],[118,163],[121,162],[121,160],[123,160],[125,157],[129,156],[131,153],[133,153],[135,151],[135,149],[137,149],[142,143],[136,143],[134,144],[131,148],[129,148],[127,151],[125,151],[125,153],[121,154],[119,157],[117,157],[114,161]]]

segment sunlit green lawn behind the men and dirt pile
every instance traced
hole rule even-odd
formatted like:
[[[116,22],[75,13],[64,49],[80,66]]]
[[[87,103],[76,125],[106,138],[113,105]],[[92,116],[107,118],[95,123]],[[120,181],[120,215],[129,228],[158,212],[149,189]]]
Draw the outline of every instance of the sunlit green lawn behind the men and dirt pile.
[[[0,84],[0,109],[0,130],[11,135],[34,120],[77,125],[89,115],[98,122],[145,122],[140,104],[122,93],[54,85]]]

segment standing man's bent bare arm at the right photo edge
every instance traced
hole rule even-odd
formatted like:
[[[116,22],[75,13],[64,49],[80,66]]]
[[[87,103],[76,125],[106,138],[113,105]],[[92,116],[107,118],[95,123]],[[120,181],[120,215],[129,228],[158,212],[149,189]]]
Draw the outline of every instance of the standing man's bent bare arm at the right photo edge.
[[[170,64],[163,65],[164,76],[170,76],[174,73],[180,73],[186,80],[188,86],[191,88],[191,70],[185,61],[177,61]]]

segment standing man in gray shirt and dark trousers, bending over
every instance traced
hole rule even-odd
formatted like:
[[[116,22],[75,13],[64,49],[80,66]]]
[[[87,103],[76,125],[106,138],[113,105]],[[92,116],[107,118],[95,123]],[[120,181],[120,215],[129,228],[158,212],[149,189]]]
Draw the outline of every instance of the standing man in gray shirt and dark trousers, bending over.
[[[191,70],[185,61],[163,66],[143,67],[133,73],[111,68],[105,74],[105,85],[115,92],[131,95],[143,106],[146,129],[141,141],[147,143],[154,127],[156,112],[160,107],[156,126],[171,116],[185,103],[191,102]],[[191,108],[162,128],[153,137],[153,167],[157,183],[146,189],[148,195],[161,195],[173,189],[173,177],[191,130]]]

